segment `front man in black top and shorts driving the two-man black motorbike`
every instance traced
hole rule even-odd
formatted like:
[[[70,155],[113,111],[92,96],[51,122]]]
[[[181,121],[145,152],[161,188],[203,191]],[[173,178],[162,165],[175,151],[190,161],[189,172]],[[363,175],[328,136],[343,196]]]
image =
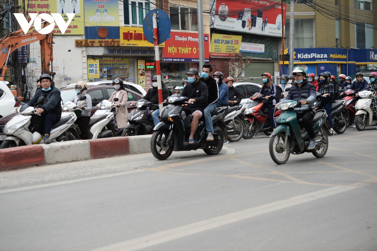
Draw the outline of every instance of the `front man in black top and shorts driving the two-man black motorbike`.
[[[186,74],[189,84],[185,86],[181,95],[189,98],[189,105],[183,107],[182,119],[185,120],[188,115],[192,115],[189,144],[194,144],[194,134],[198,128],[199,119],[203,116],[204,109],[207,107],[208,87],[199,80],[199,72],[197,69],[191,68]]]

